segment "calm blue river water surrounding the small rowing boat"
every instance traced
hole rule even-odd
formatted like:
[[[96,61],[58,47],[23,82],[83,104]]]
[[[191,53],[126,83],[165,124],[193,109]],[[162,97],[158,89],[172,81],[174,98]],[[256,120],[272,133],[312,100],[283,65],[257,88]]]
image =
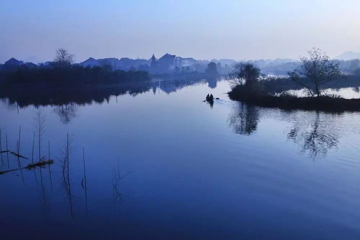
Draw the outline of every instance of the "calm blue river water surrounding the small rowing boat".
[[[359,113],[249,106],[228,99],[225,81],[151,87],[39,107],[51,181],[48,167],[0,175],[2,239],[360,238]],[[2,149],[7,133],[15,151],[21,126],[31,159],[36,111],[0,103]]]

